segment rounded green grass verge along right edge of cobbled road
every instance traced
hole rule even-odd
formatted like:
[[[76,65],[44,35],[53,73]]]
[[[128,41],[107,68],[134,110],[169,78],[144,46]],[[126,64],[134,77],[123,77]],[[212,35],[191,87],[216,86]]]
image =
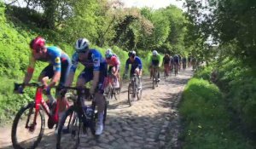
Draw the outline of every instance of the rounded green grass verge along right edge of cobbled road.
[[[250,149],[251,142],[230,129],[230,115],[218,87],[192,78],[179,106],[182,116],[184,149]]]

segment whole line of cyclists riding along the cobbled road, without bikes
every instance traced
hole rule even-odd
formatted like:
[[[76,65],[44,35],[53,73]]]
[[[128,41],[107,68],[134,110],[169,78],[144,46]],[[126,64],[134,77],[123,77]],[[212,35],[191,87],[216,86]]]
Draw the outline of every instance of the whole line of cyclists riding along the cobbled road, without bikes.
[[[66,100],[64,95],[59,94],[61,87],[71,86],[73,78],[79,64],[84,66],[84,70],[79,73],[77,78],[76,87],[84,88],[86,83],[91,81],[90,94],[93,94],[97,106],[97,120],[96,123],[96,135],[101,135],[103,131],[103,114],[105,100],[103,97],[104,88],[106,87],[106,78],[109,76],[113,78],[113,87],[119,88],[120,81],[120,60],[117,54],[114,54],[111,49],[105,51],[105,55],[102,55],[98,49],[90,49],[90,42],[86,38],[79,38],[74,45],[74,51],[72,59],[62,51],[60,48],[55,46],[46,46],[44,37],[35,37],[30,43],[31,57],[27,66],[26,75],[23,83],[29,83],[32,79],[32,74],[35,69],[37,61],[44,61],[49,63],[48,66],[40,73],[38,81],[44,84],[44,93],[49,99],[49,107],[55,105],[55,97],[60,100],[58,116],[59,122],[66,110]],[[139,78],[138,89],[142,89],[142,74],[143,74],[143,62],[140,57],[137,56],[135,51],[128,52],[128,59],[125,62],[125,77],[128,76],[129,65],[130,77],[134,74]],[[189,59],[191,60],[191,59]],[[160,81],[160,54],[156,50],[152,52],[150,56],[150,77],[153,75],[154,69],[158,70],[157,77]],[[170,56],[165,54],[162,60],[162,66],[166,76],[173,69],[186,67],[187,59],[181,57],[181,55],[174,54]],[[190,65],[190,63],[189,63]],[[51,78],[50,82],[47,83],[46,78]],[[57,85],[60,87],[56,90],[55,97],[51,95],[50,89]],[[22,93],[25,86],[20,86],[19,92]],[[49,120],[50,121],[50,120]],[[48,122],[49,128],[52,128],[54,124]]]

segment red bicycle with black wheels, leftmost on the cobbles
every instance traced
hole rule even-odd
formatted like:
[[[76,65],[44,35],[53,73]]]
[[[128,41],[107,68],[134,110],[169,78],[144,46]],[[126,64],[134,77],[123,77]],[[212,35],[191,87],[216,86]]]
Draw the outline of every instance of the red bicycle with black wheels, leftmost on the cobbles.
[[[36,148],[44,135],[44,128],[45,128],[44,112],[49,117],[49,120],[48,120],[49,129],[52,129],[53,126],[55,124],[57,125],[58,123],[59,101],[57,100],[55,109],[52,109],[54,110],[54,114],[51,114],[49,111],[49,106],[46,104],[46,102],[43,99],[44,85],[41,85],[39,83],[27,83],[27,84],[15,83],[15,89],[14,89],[15,92],[18,91],[18,89],[20,88],[20,85],[25,85],[28,87],[37,87],[37,90],[36,90],[36,95],[34,100],[29,102],[26,106],[21,107],[19,112],[17,112],[15,116],[15,120],[12,125],[12,132],[11,132],[12,143],[15,149]],[[66,104],[68,106],[68,103]],[[39,116],[39,119],[38,119],[38,116]],[[26,129],[26,131],[21,130],[21,128],[24,129],[23,127],[21,127],[22,124],[25,124],[24,128]],[[27,142],[26,140],[20,141],[20,139],[22,139],[22,138],[19,138],[20,133],[21,134],[26,133]],[[32,135],[31,139],[28,139],[29,135]],[[27,144],[31,144],[31,145],[27,145]]]

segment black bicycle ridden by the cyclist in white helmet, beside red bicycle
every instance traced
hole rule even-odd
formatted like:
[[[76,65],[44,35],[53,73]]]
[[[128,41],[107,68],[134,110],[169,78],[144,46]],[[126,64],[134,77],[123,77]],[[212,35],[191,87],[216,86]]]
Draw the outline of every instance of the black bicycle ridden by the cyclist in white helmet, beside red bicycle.
[[[89,89],[78,89],[73,87],[65,87],[65,89],[77,90],[77,96],[71,95],[70,98],[73,100],[73,106],[69,106],[64,116],[61,119],[61,123],[58,128],[56,148],[78,148],[80,144],[80,138],[82,133],[87,134],[87,129],[90,129],[92,135],[96,138],[96,122],[97,122],[97,111],[96,102],[94,97],[90,95]],[[82,106],[84,100],[90,101],[90,106]],[[72,115],[72,118],[67,123],[67,117]],[[107,103],[105,102],[103,124],[105,124],[107,117]],[[63,129],[67,131],[63,131]],[[71,143],[70,141],[73,141]],[[63,147],[61,147],[63,146]]]

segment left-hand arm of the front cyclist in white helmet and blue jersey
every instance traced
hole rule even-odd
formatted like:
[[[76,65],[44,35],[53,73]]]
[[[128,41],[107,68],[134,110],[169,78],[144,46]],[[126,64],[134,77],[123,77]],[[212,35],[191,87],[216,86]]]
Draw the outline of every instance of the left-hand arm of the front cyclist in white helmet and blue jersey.
[[[72,57],[72,66],[68,73],[68,77],[67,77],[65,86],[70,86],[73,83],[73,77],[74,77],[74,74],[78,67],[78,64],[79,64],[79,55],[77,53],[75,53],[75,54],[73,54],[73,57]]]

